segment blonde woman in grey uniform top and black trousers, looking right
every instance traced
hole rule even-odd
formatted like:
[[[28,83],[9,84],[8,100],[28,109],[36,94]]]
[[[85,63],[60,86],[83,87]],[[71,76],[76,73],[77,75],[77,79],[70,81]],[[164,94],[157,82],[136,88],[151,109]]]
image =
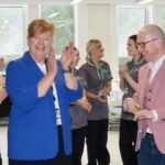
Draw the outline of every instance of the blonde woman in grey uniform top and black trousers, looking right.
[[[86,97],[91,105],[87,113],[87,152],[88,165],[108,165],[110,154],[107,148],[109,108],[108,98],[111,90],[112,75],[108,63],[102,61],[103,47],[99,40],[87,43],[87,63],[79,72],[84,79]]]

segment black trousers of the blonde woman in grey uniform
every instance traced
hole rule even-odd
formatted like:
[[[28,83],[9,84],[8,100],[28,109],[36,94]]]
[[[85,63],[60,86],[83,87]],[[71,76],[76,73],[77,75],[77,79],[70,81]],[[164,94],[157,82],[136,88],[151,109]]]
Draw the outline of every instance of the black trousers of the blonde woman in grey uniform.
[[[109,120],[88,120],[87,152],[88,165],[108,165],[110,154],[107,148]]]

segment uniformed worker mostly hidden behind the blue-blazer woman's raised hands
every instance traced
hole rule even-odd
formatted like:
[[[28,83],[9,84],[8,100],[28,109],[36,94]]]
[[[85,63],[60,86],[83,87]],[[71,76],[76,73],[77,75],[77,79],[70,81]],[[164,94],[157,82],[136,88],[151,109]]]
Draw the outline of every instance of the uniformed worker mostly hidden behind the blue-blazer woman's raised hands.
[[[80,59],[79,51],[74,48],[74,57],[72,68],[77,80],[82,85],[82,79],[78,74],[76,66]],[[76,102],[70,103],[69,111],[72,117],[72,133],[73,133],[73,165],[81,165],[81,156],[85,146],[87,117],[86,111],[90,112],[91,105],[87,101],[85,95]]]

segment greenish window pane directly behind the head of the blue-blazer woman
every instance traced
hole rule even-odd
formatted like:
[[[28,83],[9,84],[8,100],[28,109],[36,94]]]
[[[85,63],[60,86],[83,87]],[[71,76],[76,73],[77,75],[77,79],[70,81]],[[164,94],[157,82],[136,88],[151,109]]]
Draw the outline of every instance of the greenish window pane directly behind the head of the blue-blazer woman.
[[[41,18],[52,21],[56,28],[54,46],[57,54],[75,38],[73,6],[41,6]]]

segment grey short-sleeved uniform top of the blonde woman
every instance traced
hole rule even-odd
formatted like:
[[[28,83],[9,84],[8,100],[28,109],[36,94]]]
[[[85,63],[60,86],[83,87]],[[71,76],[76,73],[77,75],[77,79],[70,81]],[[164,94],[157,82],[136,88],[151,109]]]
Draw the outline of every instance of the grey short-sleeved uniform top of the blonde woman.
[[[99,95],[106,84],[112,80],[110,66],[103,61],[100,63],[99,69],[91,62],[87,62],[80,67],[79,76],[82,78],[85,89],[94,95]],[[87,113],[88,120],[108,119],[108,102],[102,103],[95,99],[88,100],[91,103],[91,112]]]

